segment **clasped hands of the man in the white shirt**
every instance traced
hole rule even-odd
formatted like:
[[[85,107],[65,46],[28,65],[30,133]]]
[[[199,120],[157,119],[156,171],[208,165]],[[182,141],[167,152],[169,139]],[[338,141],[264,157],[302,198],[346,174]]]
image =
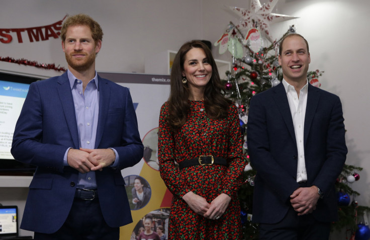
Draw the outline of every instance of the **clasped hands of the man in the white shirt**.
[[[293,192],[291,197],[291,204],[298,215],[305,215],[316,210],[317,201],[320,195],[315,186],[300,187]]]

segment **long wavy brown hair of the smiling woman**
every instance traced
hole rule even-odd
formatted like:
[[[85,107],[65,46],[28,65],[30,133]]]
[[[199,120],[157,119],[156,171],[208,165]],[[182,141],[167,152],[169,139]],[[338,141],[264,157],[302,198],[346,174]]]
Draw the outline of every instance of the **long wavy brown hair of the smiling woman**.
[[[171,69],[171,91],[168,98],[168,116],[166,122],[172,130],[177,130],[187,121],[190,110],[189,87],[182,83],[183,64],[187,53],[193,48],[201,48],[206,54],[208,62],[212,66],[212,76],[204,91],[204,107],[207,116],[211,119],[222,119],[228,114],[232,101],[223,95],[224,86],[221,84],[216,62],[211,50],[201,41],[190,41],[184,43],[178,50]]]

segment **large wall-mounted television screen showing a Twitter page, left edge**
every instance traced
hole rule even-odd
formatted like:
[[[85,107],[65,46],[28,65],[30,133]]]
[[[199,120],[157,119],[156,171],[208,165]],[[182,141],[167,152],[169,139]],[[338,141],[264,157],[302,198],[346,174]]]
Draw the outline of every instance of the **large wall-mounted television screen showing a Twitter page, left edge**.
[[[14,160],[13,133],[32,82],[40,78],[0,72],[0,175],[32,175],[35,166]]]

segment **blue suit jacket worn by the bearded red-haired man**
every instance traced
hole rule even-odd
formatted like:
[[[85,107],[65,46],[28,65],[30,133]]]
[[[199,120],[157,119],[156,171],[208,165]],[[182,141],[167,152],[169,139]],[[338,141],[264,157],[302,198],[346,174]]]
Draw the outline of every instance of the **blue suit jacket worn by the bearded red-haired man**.
[[[111,227],[132,222],[121,169],[139,162],[143,145],[129,90],[99,80],[99,120],[95,148],[117,150],[120,164],[96,172],[99,201]],[[67,73],[32,83],[18,119],[12,154],[36,165],[21,228],[53,233],[68,216],[78,171],[63,165],[67,148],[79,149],[73,98]],[[83,219],[81,219],[83,221]]]

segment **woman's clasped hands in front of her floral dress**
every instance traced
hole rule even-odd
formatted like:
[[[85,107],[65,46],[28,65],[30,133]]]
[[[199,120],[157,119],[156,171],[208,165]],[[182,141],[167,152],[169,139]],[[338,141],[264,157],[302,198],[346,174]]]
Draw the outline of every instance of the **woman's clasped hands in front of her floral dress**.
[[[221,193],[215,199],[213,199],[211,203],[208,203],[204,197],[190,191],[183,195],[182,199],[186,201],[189,207],[197,214],[200,214],[208,219],[216,219],[224,214],[229,205],[231,197],[225,193]]]

